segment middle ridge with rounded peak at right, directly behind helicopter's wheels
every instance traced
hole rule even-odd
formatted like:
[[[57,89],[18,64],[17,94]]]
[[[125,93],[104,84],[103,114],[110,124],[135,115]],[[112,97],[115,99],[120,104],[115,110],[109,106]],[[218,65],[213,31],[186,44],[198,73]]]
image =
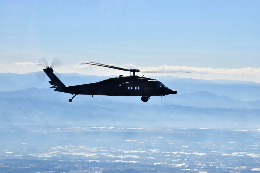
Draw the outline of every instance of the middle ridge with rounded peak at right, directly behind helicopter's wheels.
[[[28,98],[52,102],[67,103],[71,94],[53,91],[53,88],[38,89],[28,88],[19,91],[1,91],[1,98]],[[242,101],[228,96],[218,96],[216,94],[197,91],[188,94],[175,94],[167,96],[153,96],[147,103],[143,103],[140,96],[94,96],[77,95],[72,104],[82,104],[82,102],[102,101],[112,103],[136,103],[141,105],[181,105],[204,108],[248,108],[260,109],[260,100]]]

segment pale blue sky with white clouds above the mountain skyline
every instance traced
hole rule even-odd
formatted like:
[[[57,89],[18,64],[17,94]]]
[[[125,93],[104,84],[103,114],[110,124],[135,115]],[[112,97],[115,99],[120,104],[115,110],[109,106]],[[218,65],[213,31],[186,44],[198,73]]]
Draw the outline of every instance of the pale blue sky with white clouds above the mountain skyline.
[[[0,1],[0,72],[119,75],[81,61],[260,82],[260,1]],[[51,63],[50,63],[51,64]]]

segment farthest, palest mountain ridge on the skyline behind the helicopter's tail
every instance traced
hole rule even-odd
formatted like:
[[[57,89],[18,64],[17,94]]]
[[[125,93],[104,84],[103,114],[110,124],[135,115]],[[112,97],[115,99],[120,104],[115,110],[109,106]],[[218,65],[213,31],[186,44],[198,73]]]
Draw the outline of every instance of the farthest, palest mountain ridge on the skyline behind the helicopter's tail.
[[[43,73],[43,72],[36,72]],[[66,86],[98,82],[115,76],[82,75],[75,73],[63,74],[61,81]],[[176,77],[153,77],[163,82],[167,87],[177,90],[178,94],[192,93],[196,91],[207,91],[217,95],[226,95],[243,101],[254,101],[260,99],[260,84],[255,82],[240,81],[233,83],[231,80],[221,80],[220,83],[210,80],[182,79]],[[47,78],[46,78],[47,79]],[[223,83],[230,82],[230,83]],[[235,81],[236,82],[236,81]],[[48,88],[48,80],[42,82],[37,79],[35,73],[16,74],[0,73],[0,90],[16,91],[31,87]]]

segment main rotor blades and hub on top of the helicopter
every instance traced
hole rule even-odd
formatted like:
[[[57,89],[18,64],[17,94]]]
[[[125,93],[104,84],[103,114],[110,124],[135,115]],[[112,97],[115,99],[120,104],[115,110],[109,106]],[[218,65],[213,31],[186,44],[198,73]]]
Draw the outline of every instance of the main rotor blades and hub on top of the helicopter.
[[[108,67],[108,68],[114,68],[117,70],[122,70],[122,71],[128,71],[128,72],[133,72],[133,76],[135,76],[135,73],[141,72],[141,73],[192,73],[192,72],[179,72],[179,71],[141,71],[139,69],[127,69],[127,68],[121,68],[121,67],[115,67],[107,64],[101,64],[101,63],[94,63],[94,62],[81,62],[81,64],[90,64],[90,65],[96,65],[96,66],[101,66],[101,67]]]

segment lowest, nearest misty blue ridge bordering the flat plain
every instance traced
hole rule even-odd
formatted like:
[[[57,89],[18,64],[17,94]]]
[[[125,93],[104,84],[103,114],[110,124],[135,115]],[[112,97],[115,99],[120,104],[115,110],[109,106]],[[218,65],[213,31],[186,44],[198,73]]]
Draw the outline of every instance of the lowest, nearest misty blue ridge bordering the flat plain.
[[[109,103],[108,103],[109,104]],[[69,124],[142,127],[257,127],[259,109],[196,108],[178,105],[73,105],[37,99],[1,98],[1,124]]]

